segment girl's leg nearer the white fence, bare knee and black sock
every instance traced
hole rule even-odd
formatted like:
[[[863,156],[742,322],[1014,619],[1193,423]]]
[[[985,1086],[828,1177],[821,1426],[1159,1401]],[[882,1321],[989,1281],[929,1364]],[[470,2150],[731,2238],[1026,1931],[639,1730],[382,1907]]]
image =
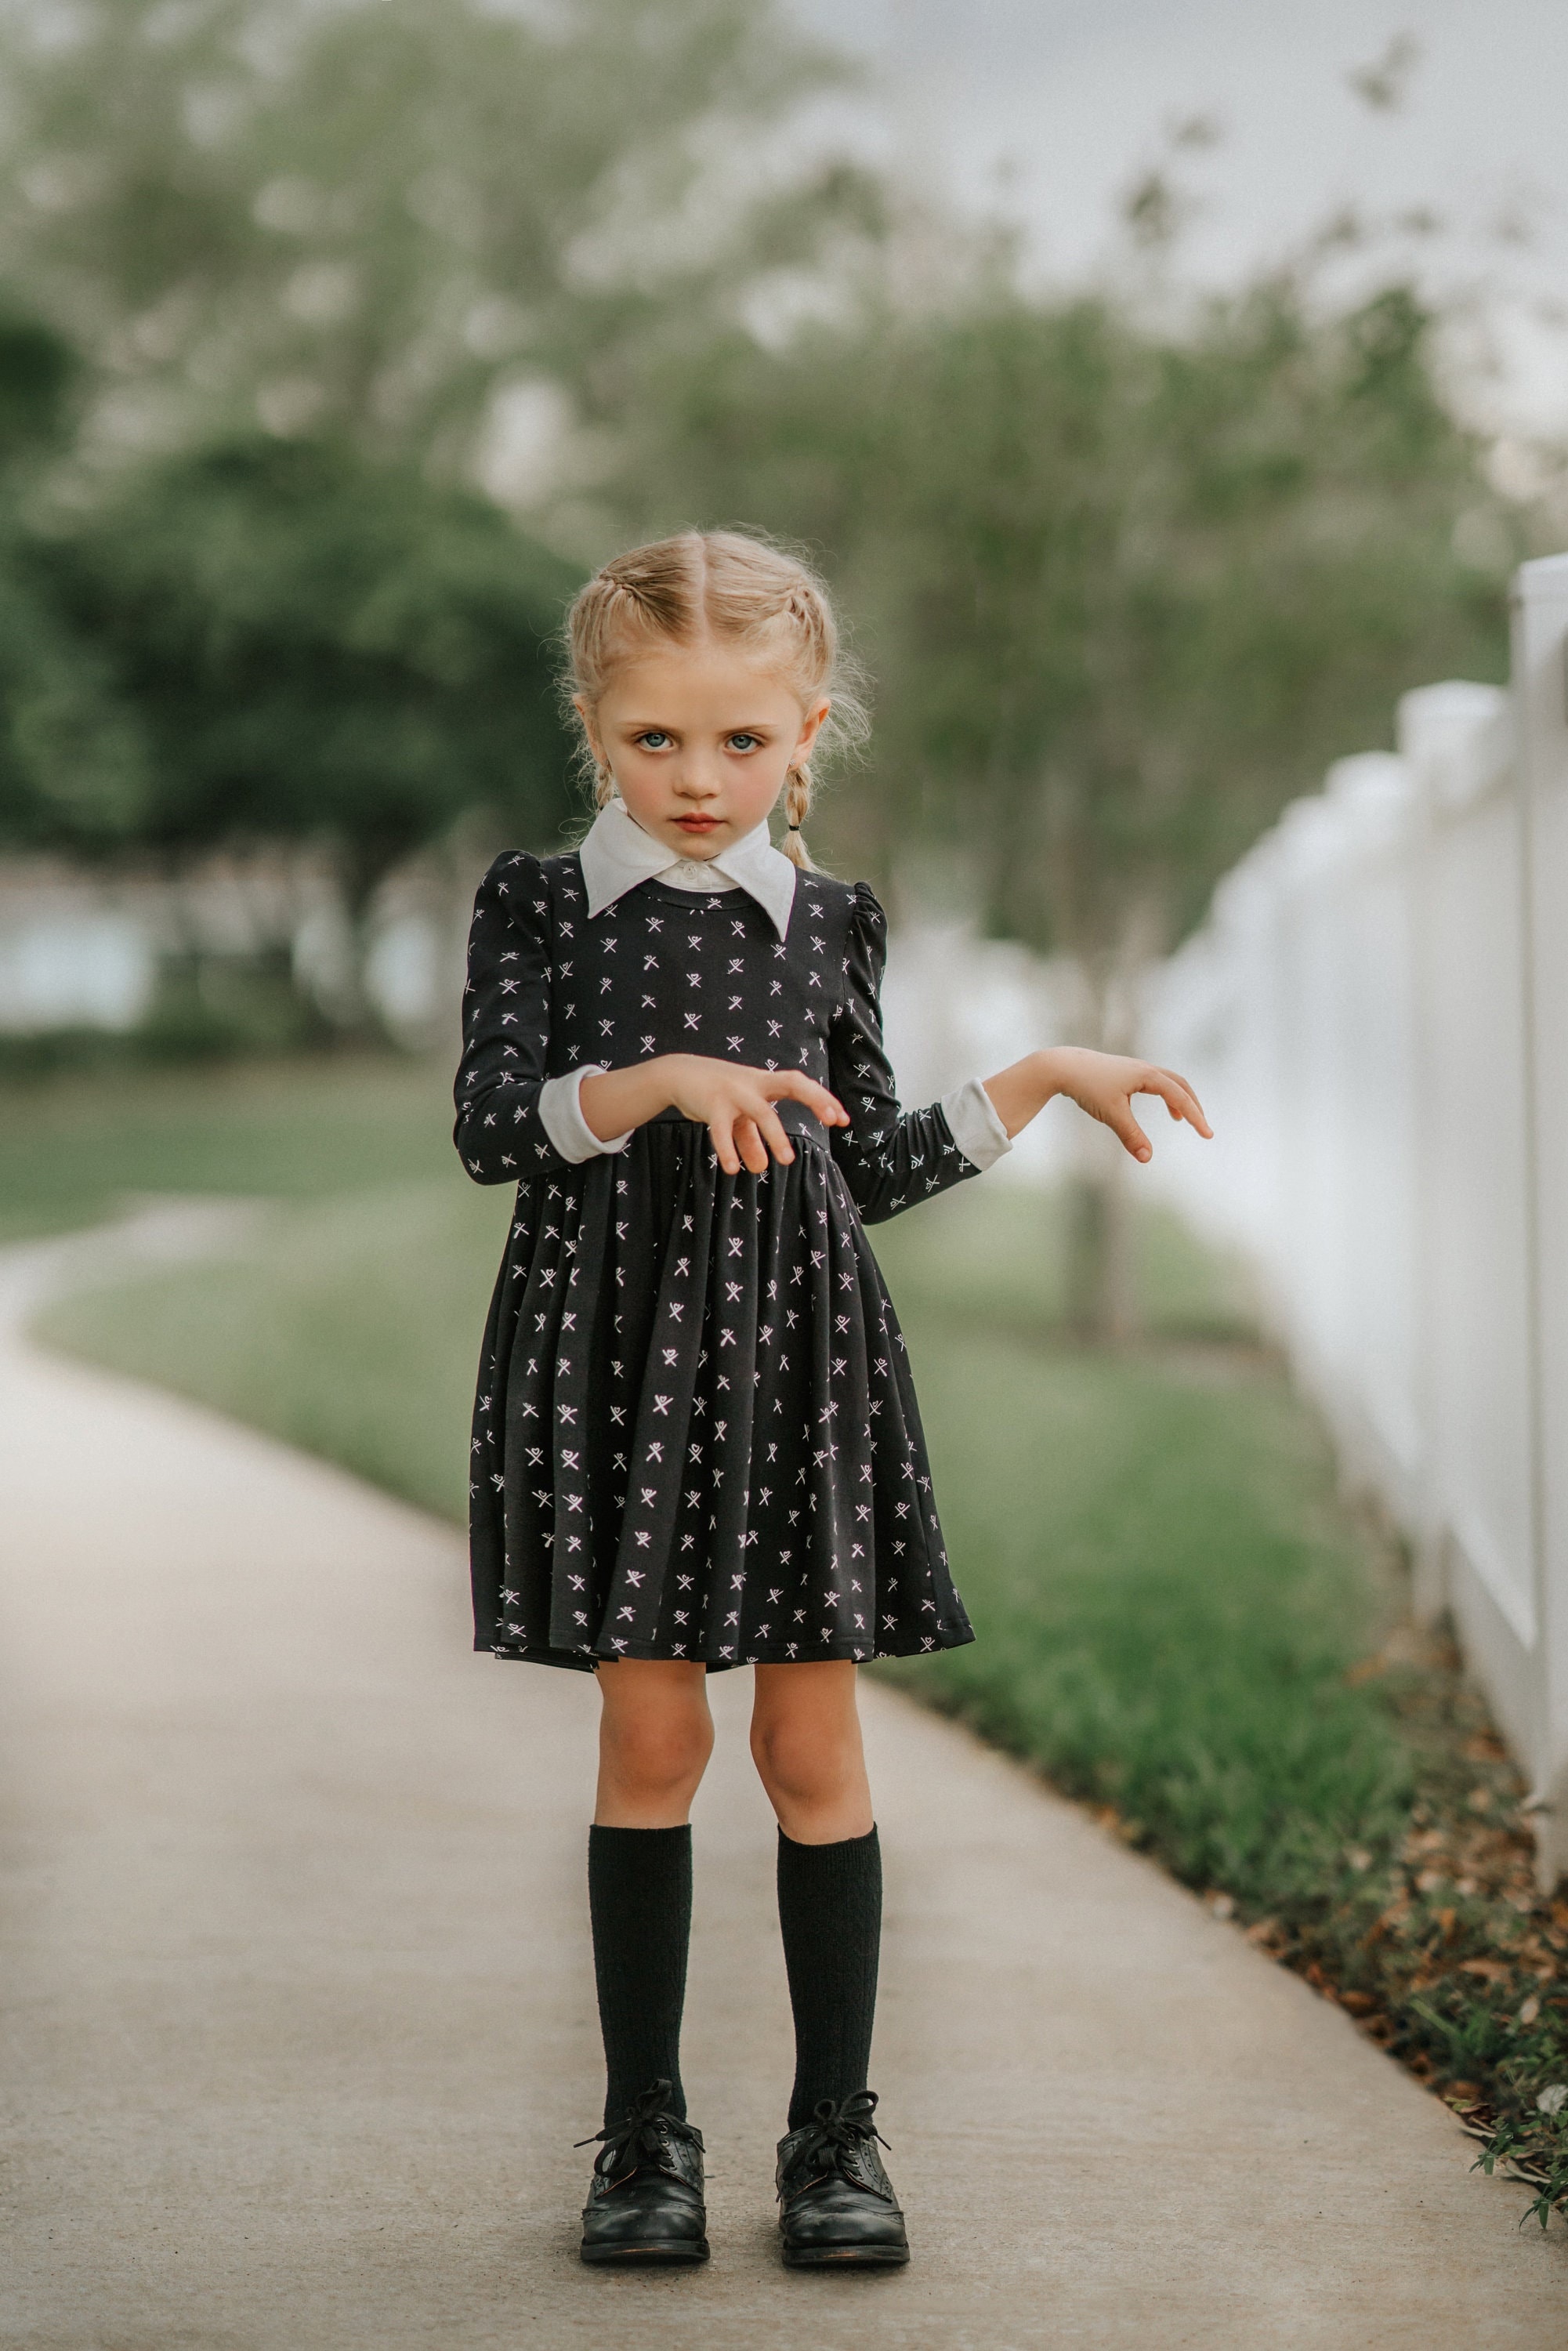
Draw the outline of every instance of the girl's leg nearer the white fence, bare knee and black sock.
[[[882,1850],[856,1667],[759,1665],[752,1759],[778,1815],[778,1923],[795,2010],[790,2130],[865,2090],[882,1947]]]

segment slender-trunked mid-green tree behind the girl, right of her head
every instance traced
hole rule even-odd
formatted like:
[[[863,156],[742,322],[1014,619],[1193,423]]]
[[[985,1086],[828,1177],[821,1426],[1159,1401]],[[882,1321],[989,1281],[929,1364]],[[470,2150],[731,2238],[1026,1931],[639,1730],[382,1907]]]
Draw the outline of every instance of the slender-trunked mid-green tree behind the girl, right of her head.
[[[879,686],[830,837],[889,877],[945,842],[992,929],[1077,964],[1084,1039],[1128,1044],[1140,969],[1331,757],[1382,741],[1406,686],[1505,672],[1523,517],[1429,334],[1403,287],[1333,313],[1279,275],[1175,329],[997,273],[964,306],[668,362],[639,520],[825,552]],[[1124,1312],[1107,1223],[1095,1187],[1095,1328]]]

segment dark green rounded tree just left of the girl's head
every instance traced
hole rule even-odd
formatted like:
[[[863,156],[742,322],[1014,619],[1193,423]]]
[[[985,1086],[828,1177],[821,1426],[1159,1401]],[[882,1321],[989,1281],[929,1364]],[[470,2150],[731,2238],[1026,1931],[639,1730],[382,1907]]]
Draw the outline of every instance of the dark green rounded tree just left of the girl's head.
[[[52,552],[148,743],[136,839],[324,844],[364,943],[383,877],[468,809],[569,809],[555,637],[578,574],[487,501],[343,444],[146,468]]]

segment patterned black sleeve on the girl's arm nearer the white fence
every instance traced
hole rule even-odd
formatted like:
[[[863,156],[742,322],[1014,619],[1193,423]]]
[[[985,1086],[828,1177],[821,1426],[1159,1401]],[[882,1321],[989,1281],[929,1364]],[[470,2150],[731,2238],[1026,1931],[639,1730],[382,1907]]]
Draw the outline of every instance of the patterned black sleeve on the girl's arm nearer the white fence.
[[[832,1128],[832,1157],[865,1225],[882,1225],[900,1208],[980,1173],[980,1164],[954,1143],[940,1103],[931,1110],[898,1107],[882,1046],[884,964],[886,915],[858,882],[844,999],[827,1032],[827,1084],[851,1119]]]

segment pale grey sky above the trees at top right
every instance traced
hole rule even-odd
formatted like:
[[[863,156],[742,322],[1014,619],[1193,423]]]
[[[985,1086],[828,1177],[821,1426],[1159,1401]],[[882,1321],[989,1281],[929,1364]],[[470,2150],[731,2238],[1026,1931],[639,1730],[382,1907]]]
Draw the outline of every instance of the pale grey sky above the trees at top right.
[[[790,0],[877,78],[870,136],[933,195],[1001,212],[1072,282],[1173,125],[1197,197],[1185,268],[1227,282],[1340,207],[1439,230],[1392,245],[1486,306],[1497,418],[1568,428],[1568,0]],[[1349,75],[1394,52],[1394,106]],[[1403,52],[1403,66],[1401,66]],[[1561,313],[1561,317],[1556,315]]]

